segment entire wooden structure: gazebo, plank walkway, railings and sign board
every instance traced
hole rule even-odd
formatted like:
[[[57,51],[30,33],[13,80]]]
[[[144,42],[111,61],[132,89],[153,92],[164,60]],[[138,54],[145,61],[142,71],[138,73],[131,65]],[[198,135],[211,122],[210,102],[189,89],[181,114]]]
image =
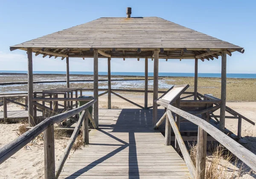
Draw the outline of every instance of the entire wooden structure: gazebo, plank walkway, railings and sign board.
[[[226,106],[227,55],[235,51],[244,53],[244,49],[159,17],[131,17],[131,8],[127,8],[126,14],[127,17],[99,18],[10,47],[11,51],[27,52],[28,93],[1,94],[4,110],[0,118],[6,122],[27,118],[30,130],[0,148],[0,164],[44,132],[45,179],[204,179],[207,141],[219,142],[256,171],[256,155],[239,143],[242,142],[242,120],[255,123]],[[34,91],[32,53],[65,59],[67,87]],[[71,57],[94,59],[93,89],[70,86]],[[221,99],[200,94],[197,88],[198,60],[204,62],[219,57]],[[99,89],[98,85],[99,58],[108,60],[106,89]],[[112,58],[145,59],[145,89],[111,88]],[[154,60],[153,91],[148,90],[148,59]],[[194,60],[194,84],[159,91],[161,59]],[[189,85],[194,86],[193,92],[186,91]],[[82,97],[83,91],[93,91],[93,97]],[[121,96],[118,91],[144,94],[144,105]],[[153,93],[152,106],[148,106],[148,93]],[[107,109],[99,109],[99,97],[103,95],[108,95]],[[136,107],[111,109],[111,95]],[[19,98],[24,102],[18,102]],[[8,102],[25,109],[8,111]],[[225,128],[227,118],[237,119],[237,134]],[[54,125],[73,132],[58,161],[55,160]],[[67,159],[80,131],[86,145]],[[187,141],[197,141],[195,164],[185,145]]]

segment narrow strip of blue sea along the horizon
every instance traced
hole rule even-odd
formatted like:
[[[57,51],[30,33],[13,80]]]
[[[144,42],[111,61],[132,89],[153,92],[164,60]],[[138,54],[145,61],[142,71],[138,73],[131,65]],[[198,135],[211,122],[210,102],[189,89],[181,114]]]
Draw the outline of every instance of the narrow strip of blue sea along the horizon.
[[[27,74],[27,71],[0,71],[1,74]],[[66,71],[33,71],[33,74],[66,74]],[[93,71],[70,71],[70,74],[85,74],[93,75]],[[108,75],[108,72],[100,71],[99,75]],[[144,72],[111,72],[111,75],[118,76],[140,76],[144,77]],[[153,77],[153,72],[148,72],[149,77]],[[194,73],[166,73],[160,72],[159,77],[194,77]],[[220,73],[198,73],[198,77],[217,77],[220,78]],[[251,78],[256,79],[256,74],[233,74],[227,73],[227,78]]]

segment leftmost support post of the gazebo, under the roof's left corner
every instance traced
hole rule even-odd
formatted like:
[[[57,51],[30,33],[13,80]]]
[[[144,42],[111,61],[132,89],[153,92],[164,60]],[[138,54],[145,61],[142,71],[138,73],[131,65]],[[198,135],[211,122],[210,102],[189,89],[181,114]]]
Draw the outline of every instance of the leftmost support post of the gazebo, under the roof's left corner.
[[[33,98],[33,65],[32,65],[32,49],[27,49],[28,55],[28,111],[29,111],[29,127],[35,125],[35,121],[33,120],[34,110],[32,104]],[[35,119],[36,120],[36,119]]]

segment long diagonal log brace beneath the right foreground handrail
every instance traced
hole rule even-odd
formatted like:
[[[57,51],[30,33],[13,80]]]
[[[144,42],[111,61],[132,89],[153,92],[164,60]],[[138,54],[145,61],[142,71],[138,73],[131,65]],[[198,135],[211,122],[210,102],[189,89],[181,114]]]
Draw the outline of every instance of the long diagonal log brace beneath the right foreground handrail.
[[[189,155],[189,152],[186,148],[186,145],[180,135],[180,131],[179,131],[179,128],[175,122],[175,120],[173,119],[173,116],[172,116],[172,111],[170,111],[169,109],[167,109],[167,116],[166,116],[166,119],[168,117],[169,119],[169,122],[170,122],[170,125],[172,126],[172,130],[174,131],[174,134],[175,134],[175,138],[177,139],[177,143],[179,145],[179,148],[180,148],[180,151],[182,153],[182,156],[186,162],[186,165],[189,169],[189,173],[190,175],[192,176],[192,179],[196,179],[195,177],[195,165],[193,164],[192,162],[192,159]]]

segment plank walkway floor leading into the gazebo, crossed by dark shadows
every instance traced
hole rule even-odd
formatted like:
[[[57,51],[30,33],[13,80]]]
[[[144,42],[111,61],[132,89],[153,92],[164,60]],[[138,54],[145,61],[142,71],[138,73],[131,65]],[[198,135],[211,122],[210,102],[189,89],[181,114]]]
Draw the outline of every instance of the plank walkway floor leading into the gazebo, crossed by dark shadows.
[[[90,131],[90,145],[72,155],[60,178],[191,178],[183,159],[152,129],[152,110],[101,109],[99,119],[99,130]]]

